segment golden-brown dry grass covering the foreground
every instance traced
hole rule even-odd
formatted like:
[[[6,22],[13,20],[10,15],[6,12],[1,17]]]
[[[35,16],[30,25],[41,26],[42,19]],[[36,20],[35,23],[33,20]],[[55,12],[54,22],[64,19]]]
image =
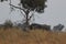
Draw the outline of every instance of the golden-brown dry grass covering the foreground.
[[[0,44],[66,44],[66,33],[18,29],[0,29]]]

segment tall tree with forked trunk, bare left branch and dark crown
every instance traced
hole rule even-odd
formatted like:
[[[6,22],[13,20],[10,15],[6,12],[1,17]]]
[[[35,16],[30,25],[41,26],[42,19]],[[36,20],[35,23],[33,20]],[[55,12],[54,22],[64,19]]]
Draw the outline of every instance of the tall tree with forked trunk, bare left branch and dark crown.
[[[31,15],[30,12],[37,12],[37,13],[43,13],[44,9],[46,8],[45,2],[47,0],[19,0],[20,7],[15,7],[13,4],[11,4],[11,0],[10,0],[10,6],[16,9],[20,9],[21,13],[24,12],[24,18],[25,18],[25,24],[26,26],[30,24],[30,20],[31,18],[34,15],[33,13]],[[3,2],[3,0],[1,0],[1,2]]]

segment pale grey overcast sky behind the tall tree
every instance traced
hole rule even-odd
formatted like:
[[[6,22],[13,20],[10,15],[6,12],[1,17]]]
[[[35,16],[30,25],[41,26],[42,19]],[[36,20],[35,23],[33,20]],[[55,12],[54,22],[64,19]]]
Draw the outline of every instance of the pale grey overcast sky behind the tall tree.
[[[13,0],[12,3],[16,6],[19,0]],[[46,4],[47,8],[44,13],[35,13],[33,23],[48,24],[52,26],[62,23],[66,26],[66,0],[47,0]],[[6,20],[16,22],[22,19],[23,16],[18,9],[10,12],[9,1],[0,2],[0,23],[3,23]]]

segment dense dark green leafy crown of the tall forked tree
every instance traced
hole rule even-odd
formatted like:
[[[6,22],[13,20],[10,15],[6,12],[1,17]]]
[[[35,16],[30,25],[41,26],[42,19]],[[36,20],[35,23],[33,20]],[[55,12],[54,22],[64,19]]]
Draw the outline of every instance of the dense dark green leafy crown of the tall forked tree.
[[[47,0],[21,0],[21,3],[25,9],[31,9],[32,11],[35,10],[36,12],[44,12],[46,1]]]

